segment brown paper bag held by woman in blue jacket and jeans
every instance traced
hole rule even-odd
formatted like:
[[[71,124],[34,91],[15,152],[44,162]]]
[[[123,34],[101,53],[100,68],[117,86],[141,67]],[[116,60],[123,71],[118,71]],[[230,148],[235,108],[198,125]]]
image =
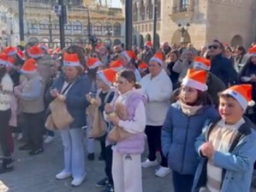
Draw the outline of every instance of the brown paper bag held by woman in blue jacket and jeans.
[[[53,122],[58,129],[65,129],[74,121],[73,117],[68,112],[65,102],[56,98],[53,102],[50,102],[49,107]]]

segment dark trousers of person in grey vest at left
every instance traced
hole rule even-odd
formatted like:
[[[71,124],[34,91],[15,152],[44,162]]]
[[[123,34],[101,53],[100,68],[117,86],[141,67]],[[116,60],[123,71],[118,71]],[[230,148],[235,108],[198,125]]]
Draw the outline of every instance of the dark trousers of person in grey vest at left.
[[[23,113],[23,115],[28,134],[27,144],[30,144],[32,149],[41,148],[43,146],[44,112]]]

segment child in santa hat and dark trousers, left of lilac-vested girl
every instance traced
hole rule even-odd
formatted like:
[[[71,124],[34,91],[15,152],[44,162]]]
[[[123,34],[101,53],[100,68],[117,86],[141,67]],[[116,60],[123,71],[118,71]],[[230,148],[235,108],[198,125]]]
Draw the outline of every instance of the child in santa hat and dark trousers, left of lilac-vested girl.
[[[112,102],[114,97],[114,89],[112,88],[113,83],[116,80],[117,72],[113,69],[105,69],[97,72],[97,93],[95,97],[92,95],[87,95],[87,100],[92,103],[92,105],[97,105],[98,109],[102,113],[105,109],[107,103]],[[107,127],[110,124],[107,123]],[[99,160],[105,161],[105,174],[106,177],[102,178],[96,183],[97,187],[105,187],[104,192],[110,192],[114,190],[114,183],[112,178],[112,145],[106,142],[107,133],[102,135],[102,137],[97,138],[100,140],[101,152]],[[101,159],[100,159],[101,158]]]

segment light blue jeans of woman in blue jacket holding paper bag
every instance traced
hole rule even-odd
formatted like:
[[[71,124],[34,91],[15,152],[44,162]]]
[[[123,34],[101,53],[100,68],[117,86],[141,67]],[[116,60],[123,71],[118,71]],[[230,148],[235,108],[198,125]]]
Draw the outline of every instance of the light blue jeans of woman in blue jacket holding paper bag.
[[[63,129],[60,131],[64,146],[65,172],[72,176],[85,175],[85,152],[82,142],[82,128]]]

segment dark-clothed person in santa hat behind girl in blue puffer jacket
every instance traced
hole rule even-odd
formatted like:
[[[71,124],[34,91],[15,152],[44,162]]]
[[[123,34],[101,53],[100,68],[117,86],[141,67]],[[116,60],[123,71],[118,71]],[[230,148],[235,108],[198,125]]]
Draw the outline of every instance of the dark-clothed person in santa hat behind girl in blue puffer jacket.
[[[222,80],[220,80],[216,75],[210,73],[210,60],[206,58],[196,57],[193,60],[193,69],[194,70],[206,70],[207,72],[207,81],[206,85],[208,86],[208,93],[213,100],[213,105],[218,107],[218,93],[225,90],[226,86]]]

